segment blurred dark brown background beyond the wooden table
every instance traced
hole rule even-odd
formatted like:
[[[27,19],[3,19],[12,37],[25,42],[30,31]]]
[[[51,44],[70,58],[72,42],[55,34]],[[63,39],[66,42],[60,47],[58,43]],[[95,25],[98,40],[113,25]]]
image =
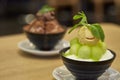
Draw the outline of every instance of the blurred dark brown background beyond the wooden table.
[[[89,23],[120,24],[120,0],[0,0],[0,36],[22,33],[26,18],[45,4],[56,8],[56,18],[67,27],[75,24],[72,17],[78,11],[86,13]]]

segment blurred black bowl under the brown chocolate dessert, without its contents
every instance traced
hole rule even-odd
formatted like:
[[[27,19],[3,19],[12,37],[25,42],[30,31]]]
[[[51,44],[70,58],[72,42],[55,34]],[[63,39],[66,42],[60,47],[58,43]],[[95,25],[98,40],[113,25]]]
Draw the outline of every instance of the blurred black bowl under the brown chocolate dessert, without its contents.
[[[40,50],[51,50],[65,34],[65,31],[54,34],[36,34],[25,31],[27,38]]]

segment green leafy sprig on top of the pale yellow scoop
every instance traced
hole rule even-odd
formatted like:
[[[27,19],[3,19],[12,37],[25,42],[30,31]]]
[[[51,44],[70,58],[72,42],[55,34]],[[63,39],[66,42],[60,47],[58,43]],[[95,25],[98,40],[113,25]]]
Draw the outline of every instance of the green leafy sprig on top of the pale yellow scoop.
[[[87,17],[84,12],[78,12],[78,14],[76,14],[73,17],[73,20],[79,20],[79,19],[81,19],[80,22],[75,24],[70,29],[69,33],[79,26],[86,26],[96,38],[100,39],[101,41],[104,41],[105,35],[104,35],[103,29],[101,28],[100,24],[98,23],[88,24]]]

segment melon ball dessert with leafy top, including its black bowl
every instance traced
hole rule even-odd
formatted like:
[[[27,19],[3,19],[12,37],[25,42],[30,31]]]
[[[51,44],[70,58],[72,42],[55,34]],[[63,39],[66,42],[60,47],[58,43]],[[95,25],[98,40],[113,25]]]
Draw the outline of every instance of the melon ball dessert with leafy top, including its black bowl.
[[[81,20],[69,31],[77,31],[70,40],[70,47],[60,51],[63,63],[75,80],[98,80],[111,66],[116,54],[107,49],[100,24],[89,24],[84,12],[78,12],[73,19]]]

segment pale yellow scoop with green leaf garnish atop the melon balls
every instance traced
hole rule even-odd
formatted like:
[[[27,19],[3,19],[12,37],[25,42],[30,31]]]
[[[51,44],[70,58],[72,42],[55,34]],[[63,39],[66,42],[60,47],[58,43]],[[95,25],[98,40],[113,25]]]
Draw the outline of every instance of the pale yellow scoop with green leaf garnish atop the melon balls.
[[[77,15],[73,17],[74,20],[81,19],[81,21],[78,24],[75,24],[69,33],[74,30],[77,27],[81,27],[78,34],[80,37],[79,40],[82,43],[89,43],[89,41],[92,41],[91,44],[96,43],[99,40],[102,42],[104,41],[104,32],[99,24],[88,24],[87,17],[84,14],[84,12],[78,12]]]

